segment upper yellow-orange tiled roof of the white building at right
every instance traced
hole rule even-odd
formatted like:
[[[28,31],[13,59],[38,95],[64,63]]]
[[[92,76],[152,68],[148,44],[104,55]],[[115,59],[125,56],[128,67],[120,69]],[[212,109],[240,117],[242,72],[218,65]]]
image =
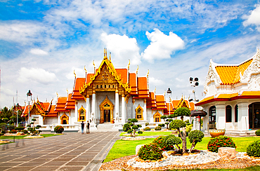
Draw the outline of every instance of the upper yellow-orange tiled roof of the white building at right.
[[[244,74],[245,69],[251,64],[251,60],[238,65],[238,66],[216,66],[216,72],[219,74],[222,83],[224,85],[232,85],[240,83],[240,74]]]

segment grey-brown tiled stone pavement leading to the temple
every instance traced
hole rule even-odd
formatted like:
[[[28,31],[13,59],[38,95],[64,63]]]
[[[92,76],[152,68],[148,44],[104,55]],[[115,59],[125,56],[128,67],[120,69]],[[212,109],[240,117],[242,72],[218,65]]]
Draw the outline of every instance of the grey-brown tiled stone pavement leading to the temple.
[[[65,133],[40,139],[17,139],[0,146],[0,170],[96,171],[119,132]]]

